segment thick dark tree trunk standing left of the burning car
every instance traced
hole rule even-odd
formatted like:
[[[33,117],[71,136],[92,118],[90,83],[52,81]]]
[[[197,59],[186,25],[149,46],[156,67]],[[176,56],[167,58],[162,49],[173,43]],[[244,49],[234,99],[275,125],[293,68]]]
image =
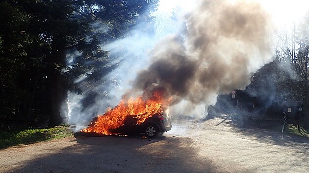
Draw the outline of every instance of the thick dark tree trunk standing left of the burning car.
[[[65,65],[66,42],[62,37],[54,37],[52,42],[52,57],[49,68],[49,100],[48,114],[50,115],[49,126],[56,126],[64,123],[67,101],[67,81],[61,74],[57,65]]]

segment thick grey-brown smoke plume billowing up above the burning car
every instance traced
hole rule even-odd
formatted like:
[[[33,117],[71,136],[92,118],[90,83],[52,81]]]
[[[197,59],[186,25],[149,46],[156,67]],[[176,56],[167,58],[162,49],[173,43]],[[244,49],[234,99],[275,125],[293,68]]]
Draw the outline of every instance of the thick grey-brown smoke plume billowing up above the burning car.
[[[195,114],[203,116],[219,94],[245,89],[250,75],[272,60],[268,19],[253,1],[203,0],[185,16],[181,34],[155,46],[152,63],[138,73],[133,92],[164,90],[173,97],[174,110],[198,109]]]

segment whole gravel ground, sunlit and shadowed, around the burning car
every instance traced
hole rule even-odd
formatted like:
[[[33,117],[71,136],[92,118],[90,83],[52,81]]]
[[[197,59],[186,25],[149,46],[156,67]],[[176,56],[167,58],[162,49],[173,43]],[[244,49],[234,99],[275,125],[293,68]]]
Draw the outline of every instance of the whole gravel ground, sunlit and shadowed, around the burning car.
[[[5,173],[309,172],[309,138],[281,121],[174,119],[163,136],[63,138],[0,151]]]

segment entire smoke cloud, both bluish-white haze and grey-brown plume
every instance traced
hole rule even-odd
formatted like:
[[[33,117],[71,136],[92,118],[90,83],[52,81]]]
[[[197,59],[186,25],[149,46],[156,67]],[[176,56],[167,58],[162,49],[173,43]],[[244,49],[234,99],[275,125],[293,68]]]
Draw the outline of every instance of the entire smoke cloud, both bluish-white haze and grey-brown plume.
[[[128,91],[142,92],[152,86],[166,87],[173,96],[171,114],[204,117],[218,94],[244,89],[250,75],[273,60],[272,20],[278,22],[276,9],[281,1],[278,6],[265,0],[160,3],[153,14],[155,34],[137,26],[129,38],[104,45],[104,50],[118,56],[110,64],[119,63],[103,79],[106,97],[83,108],[81,101],[88,92],[83,96],[69,93],[70,124],[80,129],[106,108],[116,106]],[[169,75],[174,76],[170,79]]]

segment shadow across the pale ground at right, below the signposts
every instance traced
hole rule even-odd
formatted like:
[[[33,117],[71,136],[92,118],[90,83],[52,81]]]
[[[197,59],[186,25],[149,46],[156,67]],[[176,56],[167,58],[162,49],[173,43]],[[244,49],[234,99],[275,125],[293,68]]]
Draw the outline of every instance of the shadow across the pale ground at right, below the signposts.
[[[211,121],[215,118],[221,119],[215,126],[231,127],[239,135],[251,136],[260,142],[290,146],[295,146],[295,142],[309,144],[309,137],[306,131],[301,129],[299,133],[297,130],[293,130],[293,134],[290,132],[291,128],[295,129],[293,125],[288,125],[290,130],[287,128],[283,129],[283,118],[258,117],[239,111],[230,114],[211,115],[205,121]],[[297,133],[299,134],[296,135]]]

